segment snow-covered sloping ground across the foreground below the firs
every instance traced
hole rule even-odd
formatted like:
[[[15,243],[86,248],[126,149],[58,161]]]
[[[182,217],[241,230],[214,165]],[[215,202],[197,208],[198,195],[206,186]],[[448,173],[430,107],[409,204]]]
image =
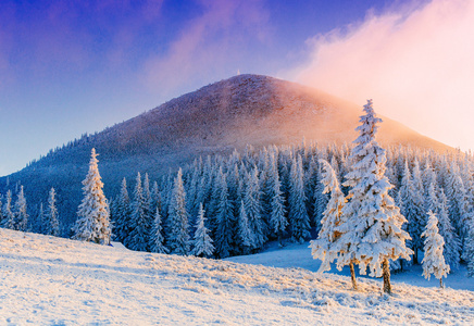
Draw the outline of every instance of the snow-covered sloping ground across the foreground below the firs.
[[[396,281],[389,297],[369,278],[352,291],[304,269],[316,268],[304,252],[282,250],[273,264],[298,267],[279,268],[263,266],[277,251],[233,259],[252,265],[0,228],[0,325],[474,325],[472,291]]]

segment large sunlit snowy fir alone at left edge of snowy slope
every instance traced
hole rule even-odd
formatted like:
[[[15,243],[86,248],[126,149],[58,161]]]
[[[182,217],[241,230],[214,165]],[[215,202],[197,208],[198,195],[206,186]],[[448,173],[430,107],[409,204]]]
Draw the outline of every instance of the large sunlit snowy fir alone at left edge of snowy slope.
[[[89,172],[83,181],[84,199],[77,211],[77,221],[73,227],[73,238],[109,244],[111,227],[109,205],[103,195],[103,183],[99,174],[96,149],[91,150]]]

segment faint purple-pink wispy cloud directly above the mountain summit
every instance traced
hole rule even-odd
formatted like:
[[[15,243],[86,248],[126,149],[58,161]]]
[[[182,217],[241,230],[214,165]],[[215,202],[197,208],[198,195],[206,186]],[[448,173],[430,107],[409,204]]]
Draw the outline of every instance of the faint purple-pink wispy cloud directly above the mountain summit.
[[[199,1],[202,10],[184,24],[164,53],[144,64],[144,83],[151,90],[171,92],[192,80],[222,73],[241,59],[252,40],[264,42],[269,15],[263,1]],[[233,67],[237,72],[238,66]]]

